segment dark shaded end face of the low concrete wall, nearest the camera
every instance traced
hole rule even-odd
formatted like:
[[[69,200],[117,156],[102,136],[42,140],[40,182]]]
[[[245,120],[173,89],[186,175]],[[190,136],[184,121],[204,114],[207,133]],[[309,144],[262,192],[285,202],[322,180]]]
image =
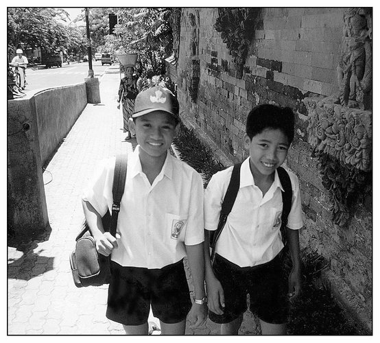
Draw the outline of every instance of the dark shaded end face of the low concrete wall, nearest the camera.
[[[7,146],[8,233],[29,237],[49,224],[34,97],[8,101]]]

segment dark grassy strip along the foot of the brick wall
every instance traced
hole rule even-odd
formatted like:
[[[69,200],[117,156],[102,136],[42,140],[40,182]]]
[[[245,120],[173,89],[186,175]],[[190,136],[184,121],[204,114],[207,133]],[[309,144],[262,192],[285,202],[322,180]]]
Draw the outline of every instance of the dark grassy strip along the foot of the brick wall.
[[[204,146],[193,130],[181,123],[180,133],[174,139],[180,158],[204,178],[205,187],[211,176],[224,166],[215,161],[213,152]],[[331,290],[320,282],[320,274],[328,263],[316,252],[301,250],[302,294],[292,303],[289,312],[289,335],[359,335],[360,329],[348,319],[335,302]],[[292,268],[285,258],[285,274]]]

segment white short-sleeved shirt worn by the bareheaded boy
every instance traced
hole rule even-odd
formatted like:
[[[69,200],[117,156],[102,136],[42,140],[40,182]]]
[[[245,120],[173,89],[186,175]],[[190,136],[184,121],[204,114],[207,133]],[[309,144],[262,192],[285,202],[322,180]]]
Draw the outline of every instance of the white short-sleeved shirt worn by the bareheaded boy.
[[[233,167],[218,171],[204,192],[204,221],[206,230],[216,230],[220,209],[226,194]],[[287,227],[302,228],[300,189],[297,177],[289,172],[292,182],[292,209]],[[277,171],[274,182],[263,196],[254,185],[249,158],[240,169],[240,186],[233,209],[217,240],[215,252],[240,267],[252,267],[274,259],[283,248],[281,239],[281,214],[283,199]]]

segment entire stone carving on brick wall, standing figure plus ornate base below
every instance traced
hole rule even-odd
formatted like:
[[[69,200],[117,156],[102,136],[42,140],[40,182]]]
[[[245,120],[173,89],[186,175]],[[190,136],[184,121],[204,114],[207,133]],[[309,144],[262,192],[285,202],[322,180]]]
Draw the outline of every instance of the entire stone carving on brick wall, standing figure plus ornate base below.
[[[365,195],[372,177],[372,10],[350,8],[343,20],[339,93],[303,99],[311,156],[318,158],[333,221],[340,226],[350,220],[351,206]]]

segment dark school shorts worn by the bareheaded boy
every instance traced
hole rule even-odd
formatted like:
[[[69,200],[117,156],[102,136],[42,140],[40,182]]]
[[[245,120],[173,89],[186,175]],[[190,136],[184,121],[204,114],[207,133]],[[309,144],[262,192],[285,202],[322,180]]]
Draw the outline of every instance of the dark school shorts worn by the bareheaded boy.
[[[209,311],[209,318],[213,322],[226,324],[244,314],[247,294],[250,295],[252,314],[270,324],[287,322],[287,282],[283,278],[278,256],[262,265],[241,268],[215,254],[213,270],[223,287],[225,303],[224,314]]]

